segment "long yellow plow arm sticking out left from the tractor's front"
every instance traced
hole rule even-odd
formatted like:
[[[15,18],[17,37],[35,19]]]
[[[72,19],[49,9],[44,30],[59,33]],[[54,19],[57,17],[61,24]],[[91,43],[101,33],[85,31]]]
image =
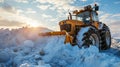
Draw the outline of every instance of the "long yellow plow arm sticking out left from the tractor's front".
[[[73,37],[70,36],[66,31],[56,31],[56,32],[45,32],[45,33],[39,33],[39,36],[60,36],[65,35],[64,43],[72,43]]]

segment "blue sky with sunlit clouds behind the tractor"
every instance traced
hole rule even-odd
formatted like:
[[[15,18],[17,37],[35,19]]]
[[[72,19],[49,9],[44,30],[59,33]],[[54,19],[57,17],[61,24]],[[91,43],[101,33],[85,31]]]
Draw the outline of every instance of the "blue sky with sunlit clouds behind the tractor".
[[[59,30],[59,21],[67,19],[69,11],[94,3],[100,7],[99,20],[112,32],[120,32],[120,0],[0,0],[0,28],[41,26]]]

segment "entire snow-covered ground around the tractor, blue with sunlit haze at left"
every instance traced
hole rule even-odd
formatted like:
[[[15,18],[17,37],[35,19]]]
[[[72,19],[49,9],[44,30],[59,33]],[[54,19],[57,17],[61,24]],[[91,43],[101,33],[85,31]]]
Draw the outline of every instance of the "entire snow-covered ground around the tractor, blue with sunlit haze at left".
[[[0,30],[0,67],[119,67],[120,40],[101,51],[64,44],[64,36],[40,37],[44,28]]]

